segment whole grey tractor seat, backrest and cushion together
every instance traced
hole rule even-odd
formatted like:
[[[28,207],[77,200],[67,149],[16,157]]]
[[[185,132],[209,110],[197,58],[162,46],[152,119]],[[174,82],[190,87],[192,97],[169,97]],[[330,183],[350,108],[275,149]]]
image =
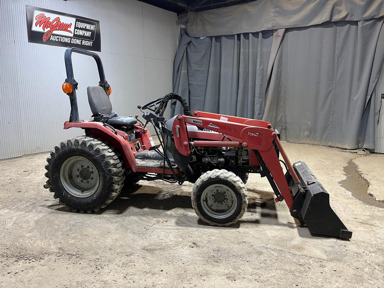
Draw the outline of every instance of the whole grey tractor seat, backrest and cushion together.
[[[96,122],[105,122],[113,127],[129,127],[137,123],[136,118],[118,116],[112,110],[112,104],[101,86],[88,86],[88,103]]]

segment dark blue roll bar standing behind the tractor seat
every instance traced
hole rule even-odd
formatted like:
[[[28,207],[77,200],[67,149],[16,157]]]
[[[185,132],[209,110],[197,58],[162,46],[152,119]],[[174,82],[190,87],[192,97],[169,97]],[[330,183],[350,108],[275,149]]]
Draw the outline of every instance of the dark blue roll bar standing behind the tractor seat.
[[[69,121],[70,122],[78,122],[79,121],[79,109],[77,106],[77,98],[76,98],[76,89],[77,89],[78,83],[73,78],[72,52],[93,57],[93,59],[96,61],[97,68],[99,71],[99,77],[100,77],[99,86],[103,87],[103,89],[107,93],[107,95],[108,95],[107,91],[109,88],[109,84],[108,84],[107,80],[105,79],[103,63],[101,63],[101,59],[100,59],[99,55],[97,55],[96,53],[84,50],[84,49],[76,48],[76,47],[68,48],[67,50],[65,50],[64,61],[65,61],[65,70],[67,73],[67,78],[65,79],[65,82],[70,83],[72,85],[72,88],[73,88],[72,93],[68,94],[70,101],[71,101],[71,114],[70,114],[70,120]]]

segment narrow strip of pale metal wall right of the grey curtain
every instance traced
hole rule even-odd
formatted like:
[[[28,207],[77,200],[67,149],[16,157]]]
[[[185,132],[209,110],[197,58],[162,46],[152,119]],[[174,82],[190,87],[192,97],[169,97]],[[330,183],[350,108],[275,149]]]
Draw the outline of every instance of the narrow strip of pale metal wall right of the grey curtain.
[[[376,93],[376,139],[375,139],[375,152],[384,153],[384,99],[381,99],[381,94],[384,94],[384,65],[381,70],[379,79],[377,80],[374,89]],[[380,104],[382,105],[379,118]],[[378,121],[377,121],[378,120]],[[377,123],[378,122],[378,123]]]

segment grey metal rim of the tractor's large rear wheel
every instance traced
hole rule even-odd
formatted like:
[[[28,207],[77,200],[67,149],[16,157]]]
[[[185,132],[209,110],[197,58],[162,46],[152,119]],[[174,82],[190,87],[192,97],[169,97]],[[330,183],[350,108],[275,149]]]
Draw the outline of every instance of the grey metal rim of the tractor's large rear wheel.
[[[61,165],[60,180],[68,193],[84,198],[92,195],[98,188],[99,173],[89,159],[72,156]]]

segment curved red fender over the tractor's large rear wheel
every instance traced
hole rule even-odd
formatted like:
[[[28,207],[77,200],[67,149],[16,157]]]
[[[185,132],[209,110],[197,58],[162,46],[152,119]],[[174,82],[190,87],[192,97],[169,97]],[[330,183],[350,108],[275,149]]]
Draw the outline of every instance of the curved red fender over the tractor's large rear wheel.
[[[71,127],[78,127],[81,129],[88,129],[87,136],[101,138],[103,141],[110,143],[115,149],[118,149],[124,159],[125,167],[136,172],[135,165],[137,164],[133,153],[133,147],[129,144],[127,134],[123,131],[116,129],[113,131],[110,127],[104,126],[101,122],[84,121],[84,122],[64,122],[64,129]]]

